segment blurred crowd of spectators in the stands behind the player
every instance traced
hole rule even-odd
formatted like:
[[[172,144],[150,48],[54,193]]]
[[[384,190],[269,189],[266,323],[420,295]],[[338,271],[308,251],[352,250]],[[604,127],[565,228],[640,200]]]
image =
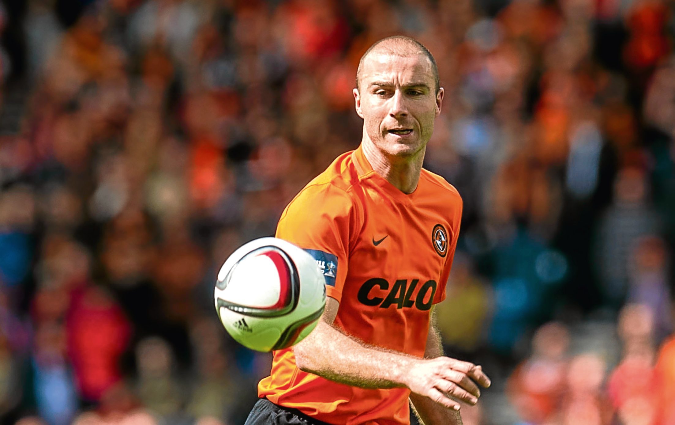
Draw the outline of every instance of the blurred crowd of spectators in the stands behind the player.
[[[469,425],[675,424],[675,1],[0,3],[0,423],[242,424],[269,354],[215,273],[354,149],[360,55],[445,88]]]

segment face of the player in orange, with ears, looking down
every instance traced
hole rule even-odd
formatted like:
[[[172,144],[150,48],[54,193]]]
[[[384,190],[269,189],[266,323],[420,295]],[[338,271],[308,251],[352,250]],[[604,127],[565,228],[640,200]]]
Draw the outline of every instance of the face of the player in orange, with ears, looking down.
[[[356,113],[375,147],[407,157],[427,145],[441,113],[443,89],[435,93],[433,68],[425,55],[370,53],[358,85]]]

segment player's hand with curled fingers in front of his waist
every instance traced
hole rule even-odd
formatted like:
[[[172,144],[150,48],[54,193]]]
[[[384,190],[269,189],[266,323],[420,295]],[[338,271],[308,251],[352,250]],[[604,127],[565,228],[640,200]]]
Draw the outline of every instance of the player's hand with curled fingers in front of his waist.
[[[475,405],[481,397],[476,382],[485,388],[491,383],[481,366],[450,357],[416,360],[405,380],[413,393],[454,410],[460,409],[460,403],[451,396]]]

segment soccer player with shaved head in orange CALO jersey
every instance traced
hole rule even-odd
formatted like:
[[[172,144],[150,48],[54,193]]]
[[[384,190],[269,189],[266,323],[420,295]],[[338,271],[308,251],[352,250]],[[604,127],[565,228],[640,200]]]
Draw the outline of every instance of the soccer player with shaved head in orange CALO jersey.
[[[375,43],[356,72],[361,144],[298,193],[277,237],[322,268],[323,320],[295,347],[275,351],[247,425],[461,424],[480,366],[443,357],[431,320],[445,297],[462,199],[422,168],[443,89],[429,51],[394,36]]]

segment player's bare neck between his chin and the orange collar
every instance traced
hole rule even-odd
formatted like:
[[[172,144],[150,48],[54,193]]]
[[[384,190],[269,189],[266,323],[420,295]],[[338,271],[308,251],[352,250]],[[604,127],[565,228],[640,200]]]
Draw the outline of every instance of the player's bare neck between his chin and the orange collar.
[[[413,193],[417,189],[426,146],[414,155],[398,157],[387,155],[377,149],[370,139],[364,138],[361,141],[361,149],[373,170],[393,184],[396,189],[406,194]]]

